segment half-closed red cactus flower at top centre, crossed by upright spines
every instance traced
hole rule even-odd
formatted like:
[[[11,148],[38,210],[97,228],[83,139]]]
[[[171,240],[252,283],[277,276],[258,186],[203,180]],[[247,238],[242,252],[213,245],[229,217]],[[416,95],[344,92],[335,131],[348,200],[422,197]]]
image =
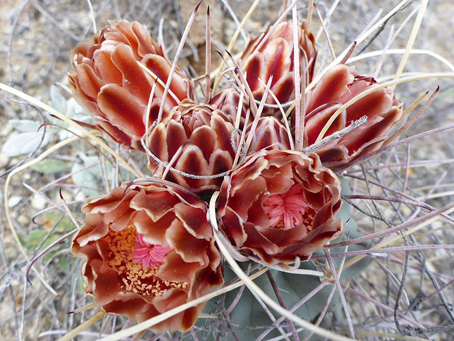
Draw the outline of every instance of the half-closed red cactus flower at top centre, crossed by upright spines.
[[[265,86],[257,77],[266,84],[271,73],[273,73],[270,91],[275,94],[280,104],[285,104],[295,99],[293,24],[292,22],[280,23],[266,41],[263,41],[268,31],[249,42],[245,52],[241,56],[240,66],[243,72],[247,72],[246,81],[252,90],[254,98],[258,101],[263,96]],[[306,73],[307,84],[312,81],[314,74],[316,57],[314,46],[314,36],[309,31],[307,22],[303,21],[298,26],[298,47],[300,48],[300,75],[304,73],[304,66],[307,66],[312,60]],[[303,60],[305,63],[303,63]],[[271,105],[276,104],[271,94],[268,94],[266,103]],[[278,108],[265,107],[262,115],[281,117]]]

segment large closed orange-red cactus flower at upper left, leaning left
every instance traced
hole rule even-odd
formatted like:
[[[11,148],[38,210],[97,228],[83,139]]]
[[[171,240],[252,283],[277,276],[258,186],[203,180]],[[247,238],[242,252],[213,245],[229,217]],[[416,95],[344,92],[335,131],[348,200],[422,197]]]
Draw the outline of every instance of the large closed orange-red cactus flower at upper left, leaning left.
[[[110,21],[94,35],[93,42],[84,42],[71,51],[74,70],[70,87],[74,98],[93,116],[95,125],[114,140],[136,150],[143,150],[140,138],[145,133],[148,116],[156,120],[164,87],[156,89],[147,113],[151,88],[158,77],[166,83],[172,63],[162,48],[138,22]],[[146,66],[155,76],[144,71]],[[172,78],[164,103],[164,111],[192,96],[192,85],[178,70]]]

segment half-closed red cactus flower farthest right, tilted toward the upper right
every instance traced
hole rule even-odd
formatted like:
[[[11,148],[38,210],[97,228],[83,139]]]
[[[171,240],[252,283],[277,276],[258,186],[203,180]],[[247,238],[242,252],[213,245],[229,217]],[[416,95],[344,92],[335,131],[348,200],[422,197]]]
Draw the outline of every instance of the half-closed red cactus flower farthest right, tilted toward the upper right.
[[[375,84],[377,82],[372,77],[357,75],[354,67],[337,65],[328,70],[307,94],[304,147],[316,141],[337,109]],[[364,115],[367,116],[367,123],[319,148],[316,153],[323,165],[330,168],[342,166],[380,148],[386,134],[401,119],[402,108],[391,87],[374,91],[348,107],[334,120],[324,136],[342,130]]]

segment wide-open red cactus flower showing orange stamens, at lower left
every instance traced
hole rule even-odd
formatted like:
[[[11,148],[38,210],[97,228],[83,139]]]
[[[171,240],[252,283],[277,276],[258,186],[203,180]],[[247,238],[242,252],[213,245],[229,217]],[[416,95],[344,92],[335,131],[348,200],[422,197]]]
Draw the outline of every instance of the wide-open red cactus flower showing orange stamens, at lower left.
[[[98,309],[144,321],[222,285],[206,204],[177,188],[125,183],[87,199],[71,252],[82,258],[83,289]],[[205,304],[153,326],[186,331]]]

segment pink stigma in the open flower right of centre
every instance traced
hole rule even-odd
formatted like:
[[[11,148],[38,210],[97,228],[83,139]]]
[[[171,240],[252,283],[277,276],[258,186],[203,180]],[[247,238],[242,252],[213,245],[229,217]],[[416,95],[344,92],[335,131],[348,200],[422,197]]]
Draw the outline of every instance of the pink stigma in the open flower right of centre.
[[[302,189],[302,185],[295,184],[288,192],[274,194],[263,202],[263,209],[268,215],[270,227],[287,230],[307,221],[304,215],[309,205],[303,194],[300,194]]]

